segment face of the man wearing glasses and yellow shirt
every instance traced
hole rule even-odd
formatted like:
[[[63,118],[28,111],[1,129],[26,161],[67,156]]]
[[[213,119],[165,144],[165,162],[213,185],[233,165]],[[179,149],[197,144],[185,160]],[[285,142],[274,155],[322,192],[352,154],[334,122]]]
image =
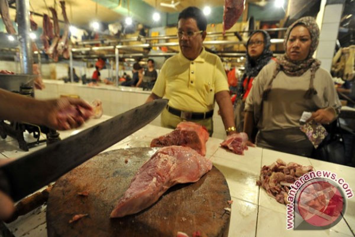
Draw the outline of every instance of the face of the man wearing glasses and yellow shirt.
[[[197,33],[199,31],[197,22],[193,18],[180,19],[178,22],[180,50],[185,58],[189,60],[195,60],[201,53],[202,43],[206,38],[206,31]]]

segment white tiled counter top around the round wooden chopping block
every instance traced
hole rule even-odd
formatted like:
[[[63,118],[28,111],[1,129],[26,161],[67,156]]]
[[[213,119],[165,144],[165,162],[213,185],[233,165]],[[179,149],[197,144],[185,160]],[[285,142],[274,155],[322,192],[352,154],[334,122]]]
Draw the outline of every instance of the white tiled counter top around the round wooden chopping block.
[[[109,116],[104,115],[101,119],[89,120],[82,129],[108,118]],[[169,133],[170,131],[171,129],[147,125],[111,146],[107,151],[129,147],[148,147],[153,138]],[[62,138],[65,138],[77,132],[77,130],[69,130],[61,132],[60,134]],[[16,146],[13,144],[14,142],[16,143],[16,141],[10,139],[0,141],[0,158],[6,158],[8,156],[18,157],[25,153],[21,152],[18,148],[16,149]],[[226,177],[232,196],[233,204],[231,207],[229,237],[353,236],[353,233],[351,233],[344,219],[333,228],[324,231],[286,230],[286,206],[270,198],[265,190],[256,185],[256,180],[259,179],[260,169],[263,165],[270,165],[278,158],[281,158],[286,163],[294,161],[301,165],[313,165],[316,170],[326,169],[333,171],[337,173],[338,176],[342,176],[345,181],[349,183],[350,187],[355,189],[354,168],[258,147],[249,147],[249,150],[245,151],[245,155],[240,156],[220,148],[220,142],[222,142],[222,140],[210,138],[207,142],[206,156],[212,160],[213,164]],[[10,151],[10,149],[13,150]],[[31,151],[33,151],[33,149],[31,149],[30,152]],[[345,220],[349,223],[350,227],[355,230],[355,198],[348,199]],[[10,223],[8,227],[16,237],[46,237],[45,205],[18,218],[15,222]]]

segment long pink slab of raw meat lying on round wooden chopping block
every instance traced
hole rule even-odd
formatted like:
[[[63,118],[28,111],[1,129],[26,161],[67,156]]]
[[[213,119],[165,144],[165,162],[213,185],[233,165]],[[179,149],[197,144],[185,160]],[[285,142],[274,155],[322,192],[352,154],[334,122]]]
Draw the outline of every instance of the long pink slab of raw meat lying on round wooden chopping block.
[[[111,212],[111,218],[148,208],[171,186],[197,182],[211,169],[212,162],[190,147],[163,147],[138,170],[130,187]]]

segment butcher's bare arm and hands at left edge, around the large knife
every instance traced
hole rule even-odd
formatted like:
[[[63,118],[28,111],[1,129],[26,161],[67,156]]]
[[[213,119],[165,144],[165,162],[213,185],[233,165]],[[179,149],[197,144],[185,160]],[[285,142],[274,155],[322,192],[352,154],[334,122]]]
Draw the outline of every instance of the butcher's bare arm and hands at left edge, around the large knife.
[[[84,113],[71,113],[80,106]],[[16,108],[16,109],[14,109]],[[82,99],[60,98],[38,100],[0,89],[0,119],[40,124],[58,130],[81,126],[93,115],[92,107]],[[0,165],[9,162],[1,160]],[[13,201],[0,192],[0,220],[6,220],[14,211]]]

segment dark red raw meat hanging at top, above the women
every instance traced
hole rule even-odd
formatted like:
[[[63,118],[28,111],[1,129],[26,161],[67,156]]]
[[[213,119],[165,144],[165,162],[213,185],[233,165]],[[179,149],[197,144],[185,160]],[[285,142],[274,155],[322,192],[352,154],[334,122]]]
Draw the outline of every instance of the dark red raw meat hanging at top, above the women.
[[[232,28],[244,11],[245,0],[224,0],[223,35]]]

